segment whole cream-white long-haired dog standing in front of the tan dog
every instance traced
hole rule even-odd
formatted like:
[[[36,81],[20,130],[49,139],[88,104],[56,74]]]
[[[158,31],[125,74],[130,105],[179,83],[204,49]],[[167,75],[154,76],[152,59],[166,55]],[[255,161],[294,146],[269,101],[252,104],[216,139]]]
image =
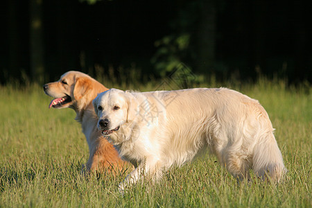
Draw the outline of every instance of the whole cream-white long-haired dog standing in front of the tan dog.
[[[121,157],[139,164],[121,183],[121,191],[142,175],[159,179],[206,147],[240,180],[250,177],[250,168],[263,180],[268,175],[279,181],[286,171],[266,110],[234,90],[110,89],[93,103],[98,129]]]

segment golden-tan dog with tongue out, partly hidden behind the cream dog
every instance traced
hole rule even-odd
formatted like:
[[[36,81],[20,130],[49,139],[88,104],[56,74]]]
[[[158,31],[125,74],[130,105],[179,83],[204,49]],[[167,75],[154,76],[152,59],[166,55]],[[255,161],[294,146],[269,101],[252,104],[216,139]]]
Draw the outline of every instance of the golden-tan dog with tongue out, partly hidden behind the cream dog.
[[[68,71],[60,80],[44,85],[44,92],[55,99],[49,107],[70,107],[75,110],[76,120],[81,123],[89,146],[89,159],[86,171],[124,171],[125,162],[121,160],[112,144],[103,138],[96,128],[98,119],[92,101],[107,88],[85,73]]]

